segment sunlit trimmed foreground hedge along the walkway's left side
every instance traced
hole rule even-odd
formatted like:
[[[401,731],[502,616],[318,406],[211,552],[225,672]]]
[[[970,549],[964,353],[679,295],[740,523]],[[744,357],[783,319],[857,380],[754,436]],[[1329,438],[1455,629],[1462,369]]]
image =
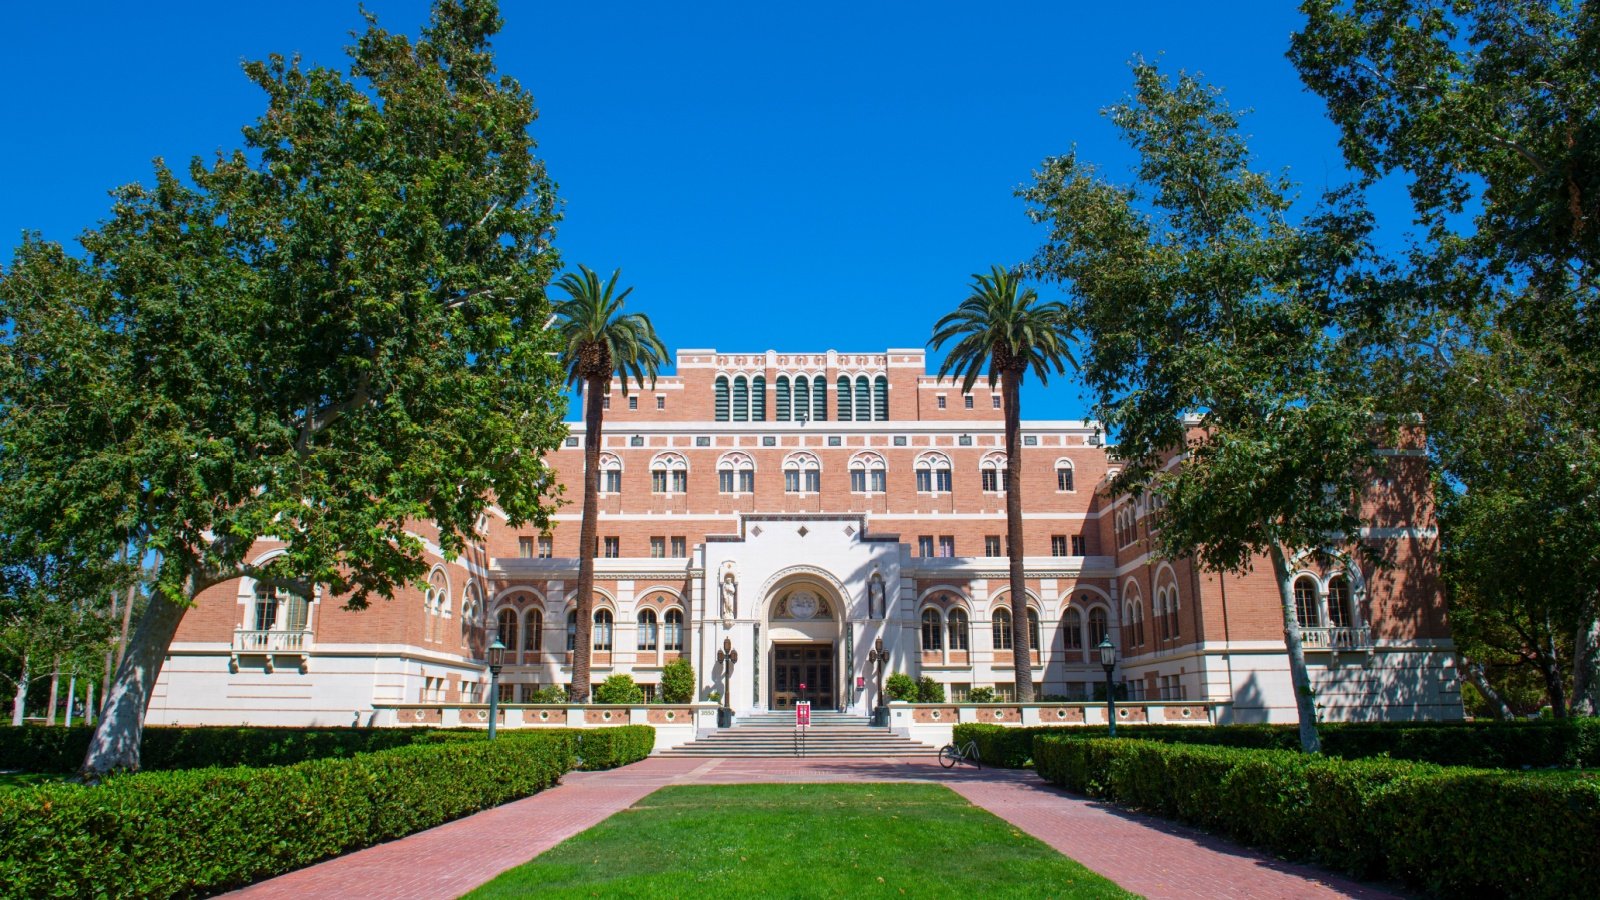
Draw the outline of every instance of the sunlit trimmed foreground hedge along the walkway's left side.
[[[570,733],[512,732],[269,769],[114,775],[0,793],[0,897],[190,897],[534,794]]]

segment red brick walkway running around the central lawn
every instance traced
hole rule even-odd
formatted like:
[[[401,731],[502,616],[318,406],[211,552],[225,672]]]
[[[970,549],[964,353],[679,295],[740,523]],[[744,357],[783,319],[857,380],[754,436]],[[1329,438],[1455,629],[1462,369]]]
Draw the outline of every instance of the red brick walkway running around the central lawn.
[[[1122,887],[1163,897],[1395,897],[1274,860],[1192,828],[1058,791],[1034,772],[944,770],[922,759],[646,759],[573,772],[528,799],[328,860],[237,892],[251,898],[448,900],[667,785],[931,781],[1005,818]]]

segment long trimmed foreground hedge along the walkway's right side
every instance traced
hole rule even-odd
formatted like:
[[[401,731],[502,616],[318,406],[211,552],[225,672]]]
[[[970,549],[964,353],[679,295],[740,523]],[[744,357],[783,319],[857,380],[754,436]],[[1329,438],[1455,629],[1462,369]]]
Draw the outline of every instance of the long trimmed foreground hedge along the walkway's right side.
[[[1434,894],[1581,897],[1600,871],[1600,780],[1043,735],[1048,781]]]

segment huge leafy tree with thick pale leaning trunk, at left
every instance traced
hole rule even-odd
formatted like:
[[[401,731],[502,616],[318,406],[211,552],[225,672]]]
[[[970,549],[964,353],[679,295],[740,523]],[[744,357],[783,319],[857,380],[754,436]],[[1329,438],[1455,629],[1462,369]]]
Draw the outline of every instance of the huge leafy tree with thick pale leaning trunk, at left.
[[[0,274],[0,514],[64,560],[157,557],[85,773],[136,769],[184,610],[250,577],[360,609],[426,573],[491,498],[547,524],[560,370],[544,330],[557,200],[490,0],[418,40],[368,19],[350,69],[272,56],[245,149],[160,162],[83,259]],[[285,552],[256,562],[253,546]]]

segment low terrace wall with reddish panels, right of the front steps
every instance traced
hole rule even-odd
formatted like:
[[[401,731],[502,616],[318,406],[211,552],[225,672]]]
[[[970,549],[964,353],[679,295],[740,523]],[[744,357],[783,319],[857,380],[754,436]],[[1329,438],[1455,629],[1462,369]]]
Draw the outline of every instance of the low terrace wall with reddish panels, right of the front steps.
[[[1229,701],[1118,701],[1123,724],[1216,725],[1227,717]],[[950,743],[955,725],[1099,725],[1106,727],[1106,701],[1090,703],[890,703],[890,729],[933,746]]]

